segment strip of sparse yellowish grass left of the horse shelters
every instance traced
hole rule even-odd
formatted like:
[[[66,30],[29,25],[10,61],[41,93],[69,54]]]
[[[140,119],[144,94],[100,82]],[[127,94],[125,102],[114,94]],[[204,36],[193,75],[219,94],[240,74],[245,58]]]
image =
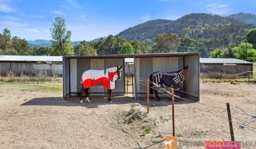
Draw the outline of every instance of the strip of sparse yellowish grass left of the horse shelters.
[[[21,90],[21,91],[29,91],[29,92],[43,92],[43,93],[51,93],[51,94],[62,94],[62,83],[40,83],[40,84],[0,84],[0,89],[5,90]]]

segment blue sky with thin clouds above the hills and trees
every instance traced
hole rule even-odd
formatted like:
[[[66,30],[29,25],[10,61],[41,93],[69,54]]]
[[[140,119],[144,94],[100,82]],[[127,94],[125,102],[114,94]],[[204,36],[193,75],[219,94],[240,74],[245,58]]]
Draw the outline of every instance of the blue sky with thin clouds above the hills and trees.
[[[116,35],[158,18],[176,20],[189,13],[256,14],[255,0],[0,0],[0,30],[27,40],[51,39],[54,18],[64,18],[71,40]]]

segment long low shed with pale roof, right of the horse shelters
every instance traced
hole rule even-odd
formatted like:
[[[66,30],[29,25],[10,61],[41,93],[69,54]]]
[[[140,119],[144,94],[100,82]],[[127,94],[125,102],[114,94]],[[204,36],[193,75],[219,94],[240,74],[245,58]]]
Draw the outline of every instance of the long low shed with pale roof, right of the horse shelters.
[[[240,59],[200,58],[200,73],[220,72],[227,74],[253,70],[253,63]]]

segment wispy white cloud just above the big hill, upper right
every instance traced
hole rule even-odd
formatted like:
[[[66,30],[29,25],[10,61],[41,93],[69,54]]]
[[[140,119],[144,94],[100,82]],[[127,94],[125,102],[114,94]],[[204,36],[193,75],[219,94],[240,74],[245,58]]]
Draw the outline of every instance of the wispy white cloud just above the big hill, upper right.
[[[207,12],[219,15],[225,15],[230,12],[229,5],[222,4],[221,2],[214,2],[213,4],[207,5]]]

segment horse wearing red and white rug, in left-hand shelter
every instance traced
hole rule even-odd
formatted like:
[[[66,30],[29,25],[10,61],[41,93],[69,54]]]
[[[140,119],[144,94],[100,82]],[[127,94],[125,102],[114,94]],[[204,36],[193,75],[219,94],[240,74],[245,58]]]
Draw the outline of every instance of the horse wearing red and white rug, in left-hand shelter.
[[[108,101],[111,100],[111,90],[115,89],[115,81],[120,80],[122,76],[122,66],[107,68],[105,70],[87,70],[84,71],[81,78],[82,88],[80,90],[80,103],[82,102],[82,92],[86,93],[86,101],[90,102],[88,98],[88,90],[92,86],[103,85],[108,89]]]

